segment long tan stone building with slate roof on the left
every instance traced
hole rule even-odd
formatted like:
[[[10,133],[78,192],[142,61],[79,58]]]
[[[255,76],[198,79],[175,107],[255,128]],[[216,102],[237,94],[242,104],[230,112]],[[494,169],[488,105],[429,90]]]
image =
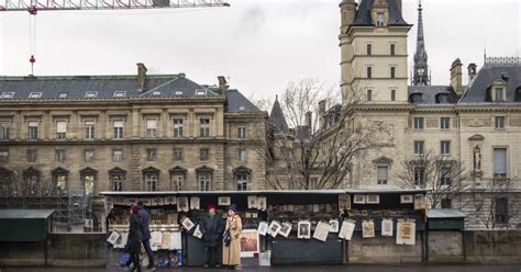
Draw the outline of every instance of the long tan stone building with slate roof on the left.
[[[266,112],[223,77],[202,86],[137,66],[133,76],[0,78],[0,193],[264,189],[253,132],[265,131]]]

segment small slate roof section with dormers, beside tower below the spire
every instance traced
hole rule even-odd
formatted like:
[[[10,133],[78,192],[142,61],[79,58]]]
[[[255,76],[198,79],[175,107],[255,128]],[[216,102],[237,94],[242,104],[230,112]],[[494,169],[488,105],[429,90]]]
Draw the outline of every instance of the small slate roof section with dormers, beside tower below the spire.
[[[412,94],[420,93],[421,101],[419,103],[412,102]],[[450,86],[409,86],[408,87],[409,103],[418,105],[446,105],[455,104],[457,102],[457,95],[454,93]],[[447,103],[440,103],[440,95],[447,95]]]

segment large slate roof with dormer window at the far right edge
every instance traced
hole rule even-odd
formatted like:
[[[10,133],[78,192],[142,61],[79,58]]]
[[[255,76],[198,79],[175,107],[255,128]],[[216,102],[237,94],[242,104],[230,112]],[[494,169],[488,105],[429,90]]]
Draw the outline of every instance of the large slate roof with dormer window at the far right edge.
[[[505,102],[492,102],[490,87],[494,81],[503,80],[507,83]],[[476,103],[517,103],[521,104],[521,63],[518,64],[485,64],[476,77],[468,83],[459,104]]]

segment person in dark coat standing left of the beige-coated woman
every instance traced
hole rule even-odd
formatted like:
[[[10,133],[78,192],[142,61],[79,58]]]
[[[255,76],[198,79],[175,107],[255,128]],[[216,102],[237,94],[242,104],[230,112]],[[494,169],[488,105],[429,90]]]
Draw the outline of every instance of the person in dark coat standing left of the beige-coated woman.
[[[215,267],[220,268],[219,249],[221,248],[224,224],[221,215],[215,213],[215,205],[208,205],[208,215],[202,218],[199,229],[204,240],[204,268],[209,268],[211,263],[215,263]],[[212,259],[213,261],[211,261]]]

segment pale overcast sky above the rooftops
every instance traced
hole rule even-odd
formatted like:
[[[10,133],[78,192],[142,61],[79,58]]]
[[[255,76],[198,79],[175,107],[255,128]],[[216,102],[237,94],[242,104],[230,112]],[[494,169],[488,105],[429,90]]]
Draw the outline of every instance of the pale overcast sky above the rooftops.
[[[313,77],[337,86],[339,2],[230,0],[231,8],[134,11],[42,11],[36,15],[35,75],[185,72],[201,84],[230,77],[247,95],[275,98],[288,81]],[[403,0],[409,71],[418,1]],[[520,55],[519,0],[424,0],[432,83],[446,84],[459,57]],[[0,12],[0,75],[30,73],[27,12]],[[466,77],[464,77],[466,80]],[[465,81],[464,81],[465,82]]]

